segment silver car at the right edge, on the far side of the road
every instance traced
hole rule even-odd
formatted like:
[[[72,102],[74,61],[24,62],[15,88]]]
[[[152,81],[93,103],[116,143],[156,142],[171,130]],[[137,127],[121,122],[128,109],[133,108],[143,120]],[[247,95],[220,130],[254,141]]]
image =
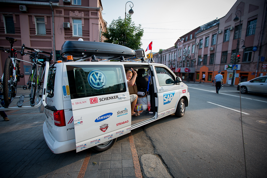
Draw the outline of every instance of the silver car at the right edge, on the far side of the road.
[[[238,84],[237,90],[241,93],[263,93],[267,94],[267,76],[261,76],[254,78],[247,82],[241,82]]]

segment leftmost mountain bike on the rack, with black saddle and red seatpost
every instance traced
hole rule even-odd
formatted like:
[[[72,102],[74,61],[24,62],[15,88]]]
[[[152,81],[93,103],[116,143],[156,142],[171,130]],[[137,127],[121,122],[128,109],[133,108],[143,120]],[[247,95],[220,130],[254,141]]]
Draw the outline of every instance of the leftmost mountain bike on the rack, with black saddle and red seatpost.
[[[6,59],[4,72],[1,78],[1,83],[3,84],[3,97],[5,102],[3,106],[5,108],[7,108],[15,98],[17,94],[17,84],[20,78],[24,77],[23,74],[19,74],[20,61],[22,60],[17,59],[18,51],[13,48],[13,44],[17,41],[17,39],[10,37],[6,37],[6,39],[10,42],[10,49],[3,49],[3,47],[0,47],[0,50],[2,50],[3,52],[10,53],[10,56]]]

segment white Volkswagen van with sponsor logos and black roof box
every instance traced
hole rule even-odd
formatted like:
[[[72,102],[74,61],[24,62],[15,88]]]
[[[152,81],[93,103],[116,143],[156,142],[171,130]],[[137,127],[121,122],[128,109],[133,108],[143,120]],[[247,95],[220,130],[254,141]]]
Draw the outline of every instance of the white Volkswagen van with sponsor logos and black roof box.
[[[78,60],[50,65],[43,132],[53,153],[75,149],[79,152],[87,148],[105,151],[112,147],[117,137],[131,132],[131,129],[172,113],[182,117],[189,104],[188,87],[179,77],[163,64],[126,62],[125,59],[136,55],[127,47],[66,41],[61,55],[71,55],[80,60],[92,57],[92,61],[97,61],[96,58],[120,59],[121,62]],[[138,73],[138,91],[148,91],[150,96],[150,107],[140,116],[131,116],[125,74],[125,70],[131,68]],[[149,85],[146,75],[151,78]],[[144,104],[149,102],[148,96],[139,99]]]

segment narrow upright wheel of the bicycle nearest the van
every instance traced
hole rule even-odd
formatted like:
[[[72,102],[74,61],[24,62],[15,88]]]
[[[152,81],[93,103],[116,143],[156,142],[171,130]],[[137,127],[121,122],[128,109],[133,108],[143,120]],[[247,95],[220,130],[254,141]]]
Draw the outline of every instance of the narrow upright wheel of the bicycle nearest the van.
[[[30,105],[34,106],[35,105],[35,95],[36,95],[36,89],[38,87],[38,65],[34,64],[33,69],[32,69],[32,77],[29,85],[29,89],[31,91],[30,93]]]

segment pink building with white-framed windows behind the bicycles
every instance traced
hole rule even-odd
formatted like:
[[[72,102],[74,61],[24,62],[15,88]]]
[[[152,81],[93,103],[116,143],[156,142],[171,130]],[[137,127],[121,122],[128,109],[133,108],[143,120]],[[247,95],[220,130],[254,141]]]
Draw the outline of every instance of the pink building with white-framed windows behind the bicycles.
[[[50,3],[52,2],[51,6]],[[78,40],[102,42],[102,31],[107,23],[101,12],[101,0],[51,0],[10,1],[0,0],[0,46],[9,49],[5,37],[17,39],[14,49],[22,44],[44,51],[54,51],[53,61],[62,59],[61,46],[65,41]],[[52,11],[53,9],[53,11]],[[8,54],[0,52],[0,74],[3,73]],[[20,57],[18,57],[20,58]],[[29,61],[28,56],[23,60]],[[25,75],[18,85],[25,85],[29,78],[29,64],[21,62],[21,73]]]

